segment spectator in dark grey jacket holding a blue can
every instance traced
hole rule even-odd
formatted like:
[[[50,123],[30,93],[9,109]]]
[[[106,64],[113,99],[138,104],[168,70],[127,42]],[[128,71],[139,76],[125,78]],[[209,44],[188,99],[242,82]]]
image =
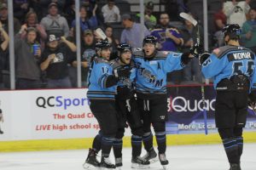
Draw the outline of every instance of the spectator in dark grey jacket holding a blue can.
[[[37,30],[29,27],[26,30],[26,39],[20,38],[20,31],[15,36],[15,77],[17,89],[41,88],[41,71],[38,61],[41,58],[41,49],[34,51]]]

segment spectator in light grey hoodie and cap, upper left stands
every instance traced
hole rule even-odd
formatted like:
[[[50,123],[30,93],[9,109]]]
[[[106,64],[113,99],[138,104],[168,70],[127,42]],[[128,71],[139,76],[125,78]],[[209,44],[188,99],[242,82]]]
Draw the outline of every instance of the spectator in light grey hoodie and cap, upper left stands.
[[[54,34],[55,37],[68,37],[69,27],[67,20],[58,14],[57,3],[49,3],[49,14],[41,20],[47,34]]]

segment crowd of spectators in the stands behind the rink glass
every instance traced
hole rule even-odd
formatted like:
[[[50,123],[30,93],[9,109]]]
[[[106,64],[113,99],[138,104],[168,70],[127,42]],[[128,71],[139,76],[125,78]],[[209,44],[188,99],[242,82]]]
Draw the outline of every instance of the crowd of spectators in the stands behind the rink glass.
[[[186,2],[177,0],[178,11],[187,12]],[[0,89],[9,88],[9,24],[8,1],[0,0]],[[251,0],[224,1],[213,15],[211,47],[224,45],[221,32],[225,24],[241,26],[241,43],[256,52],[256,7]],[[15,81],[17,89],[74,88],[77,87],[77,66],[82,70],[82,86],[86,87],[90,59],[96,54],[94,45],[100,39],[96,28],[102,28],[112,43],[112,59],[117,57],[117,44],[126,42],[132,48],[142,48],[139,36],[158,38],[157,48],[162,51],[188,52],[196,42],[197,28],[182,20],[182,25],[170,25],[177,15],[167,11],[154,15],[154,1],[145,4],[144,26],[138,21],[140,14],[123,13],[114,0],[81,0],[81,48],[76,47],[75,1],[65,0],[13,0],[15,31]],[[167,6],[166,6],[167,7]],[[193,16],[193,14],[191,14]],[[194,15],[196,18],[196,15]],[[116,26],[122,26],[118,35]],[[203,42],[202,26],[199,26]],[[80,50],[81,65],[76,61]],[[174,84],[201,83],[201,66],[192,59],[183,71],[168,76]]]

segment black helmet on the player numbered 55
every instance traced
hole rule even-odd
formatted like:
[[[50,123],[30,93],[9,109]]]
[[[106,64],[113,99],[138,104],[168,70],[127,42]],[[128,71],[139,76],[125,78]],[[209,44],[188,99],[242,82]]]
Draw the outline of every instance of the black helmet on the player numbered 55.
[[[222,29],[224,37],[229,36],[230,39],[240,39],[241,28],[237,24],[228,24]]]

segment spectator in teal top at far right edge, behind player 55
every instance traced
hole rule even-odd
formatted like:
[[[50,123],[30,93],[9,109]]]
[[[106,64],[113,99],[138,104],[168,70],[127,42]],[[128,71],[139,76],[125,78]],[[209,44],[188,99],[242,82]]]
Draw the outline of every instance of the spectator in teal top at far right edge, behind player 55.
[[[246,48],[250,48],[256,53],[256,8],[249,11],[249,20],[241,27],[241,39]]]

